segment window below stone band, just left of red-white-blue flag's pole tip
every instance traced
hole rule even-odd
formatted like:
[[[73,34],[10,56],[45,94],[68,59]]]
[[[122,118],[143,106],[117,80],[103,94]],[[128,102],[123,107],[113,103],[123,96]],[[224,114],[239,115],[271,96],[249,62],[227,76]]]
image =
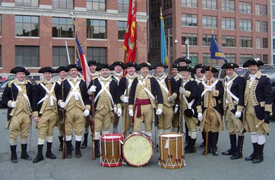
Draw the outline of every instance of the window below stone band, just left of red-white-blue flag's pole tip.
[[[73,37],[72,18],[52,18],[53,37]]]

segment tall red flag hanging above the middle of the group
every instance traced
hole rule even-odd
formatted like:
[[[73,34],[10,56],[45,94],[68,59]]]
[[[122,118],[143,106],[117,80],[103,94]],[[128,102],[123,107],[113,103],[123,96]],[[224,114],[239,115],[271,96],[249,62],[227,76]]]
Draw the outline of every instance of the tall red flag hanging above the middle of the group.
[[[126,51],[127,58],[124,60],[124,63],[135,62],[135,52],[137,49],[136,13],[137,1],[129,0],[128,20],[123,44],[123,49]]]

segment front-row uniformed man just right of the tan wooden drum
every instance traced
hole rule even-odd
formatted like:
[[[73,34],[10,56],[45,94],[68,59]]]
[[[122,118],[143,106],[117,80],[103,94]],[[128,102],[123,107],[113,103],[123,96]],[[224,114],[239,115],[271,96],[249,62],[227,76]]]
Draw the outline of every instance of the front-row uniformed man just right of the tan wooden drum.
[[[191,77],[193,68],[182,66],[180,71],[182,72],[182,84],[180,85],[181,110],[184,111],[185,122],[189,129],[187,133],[190,136],[189,143],[185,147],[185,153],[196,153],[195,144],[198,136],[196,124],[199,121],[196,113],[196,99],[199,96],[198,85]]]

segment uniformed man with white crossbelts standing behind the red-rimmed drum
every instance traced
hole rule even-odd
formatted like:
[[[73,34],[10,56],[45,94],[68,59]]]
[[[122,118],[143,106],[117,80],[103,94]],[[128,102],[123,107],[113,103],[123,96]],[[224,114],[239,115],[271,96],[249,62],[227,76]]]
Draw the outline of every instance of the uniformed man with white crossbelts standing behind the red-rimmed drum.
[[[121,103],[117,83],[109,76],[109,71],[113,70],[112,66],[100,64],[97,70],[100,70],[101,75],[90,82],[88,94],[95,93],[95,156],[100,157],[100,131],[102,130],[102,134],[109,133],[112,117],[114,117],[114,105],[117,106],[117,115],[120,117]]]

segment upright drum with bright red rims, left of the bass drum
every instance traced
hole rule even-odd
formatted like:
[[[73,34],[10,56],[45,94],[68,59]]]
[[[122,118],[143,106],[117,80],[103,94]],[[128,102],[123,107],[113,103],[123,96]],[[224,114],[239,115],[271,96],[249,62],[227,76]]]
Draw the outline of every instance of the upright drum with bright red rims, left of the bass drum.
[[[122,134],[103,134],[100,136],[100,165],[118,167],[123,165],[121,158]]]

